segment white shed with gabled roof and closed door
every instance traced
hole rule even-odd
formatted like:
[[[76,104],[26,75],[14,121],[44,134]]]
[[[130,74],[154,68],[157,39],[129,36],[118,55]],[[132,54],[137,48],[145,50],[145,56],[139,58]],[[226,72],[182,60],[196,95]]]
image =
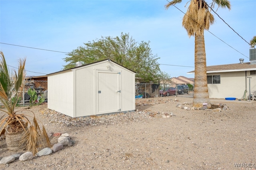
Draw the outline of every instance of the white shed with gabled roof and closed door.
[[[70,117],[134,111],[135,74],[110,59],[48,74],[48,109]]]

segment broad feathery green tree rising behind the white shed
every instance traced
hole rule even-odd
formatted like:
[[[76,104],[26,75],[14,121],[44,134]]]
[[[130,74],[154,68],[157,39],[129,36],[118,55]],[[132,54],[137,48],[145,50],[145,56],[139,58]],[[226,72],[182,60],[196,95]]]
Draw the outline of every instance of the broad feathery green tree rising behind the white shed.
[[[64,58],[68,64],[64,69],[75,67],[75,63],[89,64],[95,61],[110,59],[134,72],[136,81],[146,83],[156,81],[160,73],[157,55],[153,55],[149,46],[150,42],[136,42],[129,34],[120,37],[101,37],[99,40],[84,43],[68,53]]]

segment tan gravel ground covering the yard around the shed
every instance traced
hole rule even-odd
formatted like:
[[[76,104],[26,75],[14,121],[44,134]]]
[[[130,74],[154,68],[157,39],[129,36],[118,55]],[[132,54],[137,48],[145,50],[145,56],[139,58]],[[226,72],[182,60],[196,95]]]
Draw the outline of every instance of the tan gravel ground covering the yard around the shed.
[[[35,113],[47,132],[68,133],[75,144],[29,161],[2,164],[0,169],[255,170],[256,102],[211,101],[229,109],[176,107],[191,108],[189,95],[136,99],[136,112],[78,119],[51,111],[47,105],[31,107],[27,110]],[[56,137],[50,139],[57,142]],[[0,141],[0,157],[17,152]]]

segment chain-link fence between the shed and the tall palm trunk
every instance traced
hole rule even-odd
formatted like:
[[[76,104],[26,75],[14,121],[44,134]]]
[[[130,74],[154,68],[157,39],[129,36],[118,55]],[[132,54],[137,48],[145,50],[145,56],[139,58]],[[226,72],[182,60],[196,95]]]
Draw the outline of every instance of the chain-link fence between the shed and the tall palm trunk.
[[[190,87],[189,89],[181,89],[178,91],[175,87],[179,85],[176,83],[171,84],[154,84],[154,83],[136,83],[135,84],[135,97],[136,98],[150,98],[150,97],[164,97],[168,95],[181,95],[188,94],[193,95],[194,89]],[[170,87],[174,87],[172,89],[172,93],[167,93],[170,90]],[[163,93],[166,92],[166,93]],[[167,95],[168,94],[168,95]]]

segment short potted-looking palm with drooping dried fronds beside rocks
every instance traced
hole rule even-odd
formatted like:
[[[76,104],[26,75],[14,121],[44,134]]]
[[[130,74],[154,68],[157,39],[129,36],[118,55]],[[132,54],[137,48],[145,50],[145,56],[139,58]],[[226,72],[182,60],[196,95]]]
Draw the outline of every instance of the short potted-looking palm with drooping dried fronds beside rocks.
[[[45,144],[50,147],[50,140],[44,126],[42,130],[32,111],[31,115],[18,114],[14,111],[18,102],[19,89],[23,89],[26,59],[19,61],[18,72],[13,70],[9,73],[4,54],[0,51],[0,101],[6,110],[0,109],[5,114],[0,118],[0,136],[6,138],[9,150],[26,149],[33,154],[38,152]],[[32,119],[32,122],[28,118]],[[11,135],[11,136],[10,136]]]

